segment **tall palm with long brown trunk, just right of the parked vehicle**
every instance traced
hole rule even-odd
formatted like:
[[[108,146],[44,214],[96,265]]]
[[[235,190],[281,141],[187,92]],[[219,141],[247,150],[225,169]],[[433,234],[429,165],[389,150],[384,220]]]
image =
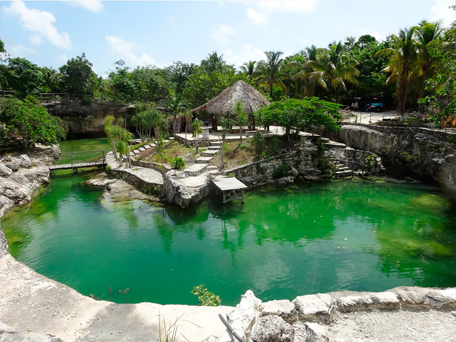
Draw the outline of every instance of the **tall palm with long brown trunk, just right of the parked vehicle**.
[[[391,72],[386,84],[396,81],[396,112],[400,115],[401,122],[404,121],[405,104],[419,54],[414,34],[414,27],[400,29],[398,35],[391,36],[396,48],[383,49],[375,54],[375,56],[390,58],[389,65],[382,71]]]

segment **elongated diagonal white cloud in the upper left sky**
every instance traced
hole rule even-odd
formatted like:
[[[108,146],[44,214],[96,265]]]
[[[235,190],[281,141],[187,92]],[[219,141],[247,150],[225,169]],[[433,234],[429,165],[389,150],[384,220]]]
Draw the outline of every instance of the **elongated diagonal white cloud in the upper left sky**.
[[[59,33],[53,24],[55,17],[52,13],[29,9],[22,1],[13,1],[10,7],[4,9],[6,14],[18,17],[25,29],[37,33],[59,48],[71,49],[68,33]]]

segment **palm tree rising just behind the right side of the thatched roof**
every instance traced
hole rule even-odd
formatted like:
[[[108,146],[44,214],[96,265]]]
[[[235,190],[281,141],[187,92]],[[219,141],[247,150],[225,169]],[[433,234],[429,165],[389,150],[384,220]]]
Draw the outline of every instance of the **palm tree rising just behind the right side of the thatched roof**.
[[[283,52],[266,51],[264,54],[266,55],[266,60],[260,60],[256,66],[258,72],[262,74],[258,84],[268,87],[271,97],[274,85],[278,85],[286,92],[287,87],[281,80],[281,78],[287,77],[286,74],[281,72],[284,61],[280,56],[283,55]]]

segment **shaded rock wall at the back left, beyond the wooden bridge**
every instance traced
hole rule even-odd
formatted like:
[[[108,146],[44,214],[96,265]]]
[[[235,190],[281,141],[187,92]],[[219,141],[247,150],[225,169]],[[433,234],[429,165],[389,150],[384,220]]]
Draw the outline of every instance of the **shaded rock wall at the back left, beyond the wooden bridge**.
[[[134,106],[114,102],[102,103],[91,100],[84,104],[81,100],[59,100],[42,103],[52,115],[61,118],[68,127],[68,137],[96,135],[104,132],[103,122],[107,116],[124,118],[129,127]]]

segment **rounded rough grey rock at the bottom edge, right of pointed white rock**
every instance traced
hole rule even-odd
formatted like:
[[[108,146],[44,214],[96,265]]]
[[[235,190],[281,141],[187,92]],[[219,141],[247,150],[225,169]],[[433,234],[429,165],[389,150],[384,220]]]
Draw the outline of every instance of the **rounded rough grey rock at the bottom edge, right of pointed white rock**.
[[[263,316],[252,328],[251,342],[293,342],[293,327],[275,315]]]

